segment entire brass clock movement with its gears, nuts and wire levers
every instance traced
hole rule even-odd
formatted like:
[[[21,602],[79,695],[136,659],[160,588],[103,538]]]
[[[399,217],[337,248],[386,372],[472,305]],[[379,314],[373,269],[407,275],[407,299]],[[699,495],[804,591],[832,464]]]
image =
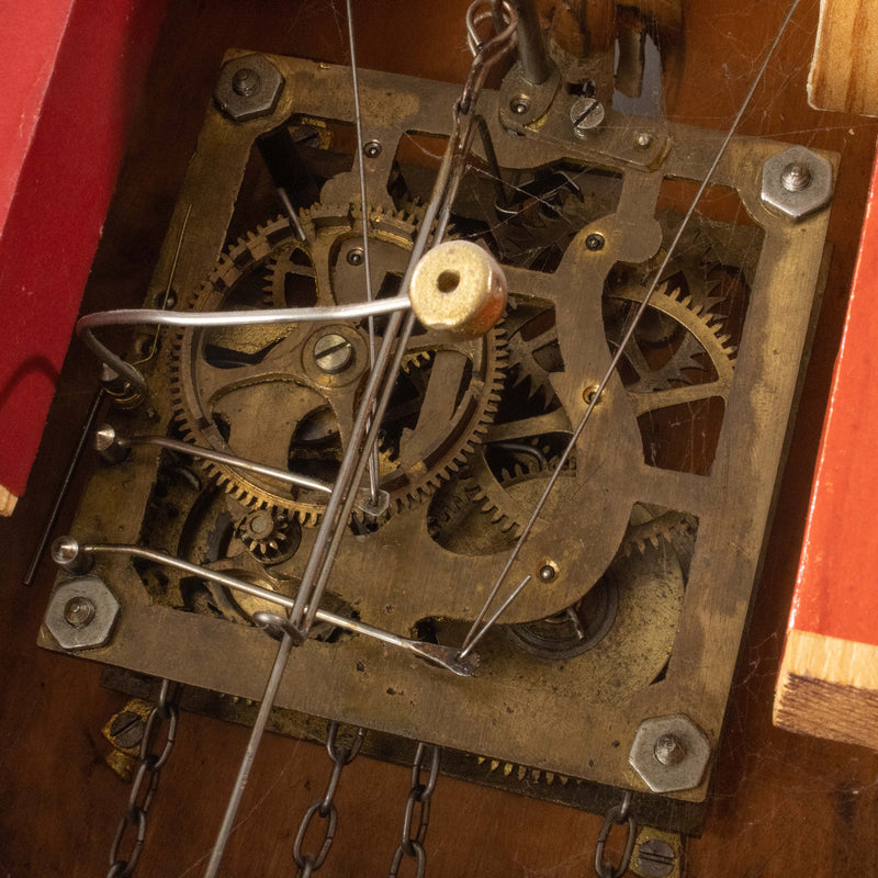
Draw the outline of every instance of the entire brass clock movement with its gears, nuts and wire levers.
[[[395,762],[425,742],[473,783],[631,793],[697,833],[837,159],[632,110],[626,70],[661,79],[643,10],[637,50],[584,59],[530,9],[471,8],[474,65],[497,58],[469,98],[472,75],[353,90],[227,53],[144,309],[80,324],[113,406],[40,643],[133,694],[273,705],[275,731],[344,723]],[[458,301],[464,244],[502,313],[409,316],[427,257]]]

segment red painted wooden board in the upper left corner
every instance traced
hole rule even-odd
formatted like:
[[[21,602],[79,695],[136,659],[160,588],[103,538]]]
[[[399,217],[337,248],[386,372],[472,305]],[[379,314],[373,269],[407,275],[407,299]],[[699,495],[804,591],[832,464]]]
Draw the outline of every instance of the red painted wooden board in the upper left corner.
[[[40,444],[160,0],[0,0],[0,485]]]

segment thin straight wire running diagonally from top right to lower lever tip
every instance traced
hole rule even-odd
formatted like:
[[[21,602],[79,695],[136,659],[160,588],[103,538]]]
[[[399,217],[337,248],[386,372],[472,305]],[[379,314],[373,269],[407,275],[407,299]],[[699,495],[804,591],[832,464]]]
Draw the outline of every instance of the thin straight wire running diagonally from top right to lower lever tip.
[[[531,513],[531,516],[528,519],[527,525],[525,526],[524,530],[521,531],[521,534],[519,536],[518,540],[516,541],[516,544],[513,548],[513,551],[509,554],[508,560],[506,561],[506,565],[504,566],[503,572],[500,573],[499,577],[497,578],[496,583],[494,584],[494,587],[491,589],[491,594],[488,595],[487,600],[485,600],[484,606],[480,610],[479,616],[476,616],[475,621],[472,623],[472,627],[466,632],[466,637],[464,638],[463,643],[461,645],[461,657],[462,658],[466,657],[466,655],[470,653],[470,651],[475,646],[475,644],[485,635],[487,630],[499,618],[499,614],[494,614],[494,616],[487,622],[487,624],[485,624],[484,628],[482,628],[482,630],[479,631],[479,633],[476,634],[476,631],[479,629],[480,623],[482,622],[482,619],[484,619],[485,614],[487,612],[488,608],[491,607],[492,603],[494,601],[494,598],[497,596],[497,593],[499,592],[500,587],[503,586],[503,583],[505,582],[506,576],[509,574],[509,571],[511,570],[513,564],[516,562],[516,560],[518,559],[519,553],[521,552],[521,547],[525,544],[525,542],[527,541],[528,537],[530,536],[530,532],[533,529],[533,526],[537,522],[537,519],[538,519],[540,513],[542,511],[543,506],[545,506],[545,503],[549,499],[549,495],[552,493],[552,488],[555,486],[555,482],[558,482],[559,476],[561,475],[561,471],[564,469],[564,465],[566,464],[567,460],[570,459],[570,455],[573,453],[573,450],[576,447],[576,442],[579,440],[579,437],[582,436],[582,432],[585,429],[585,425],[588,424],[588,421],[590,420],[592,412],[594,412],[595,406],[598,404],[598,402],[599,402],[599,399],[600,399],[600,397],[601,397],[601,395],[604,393],[604,390],[606,389],[607,384],[609,383],[610,379],[612,378],[614,372],[617,370],[617,368],[619,365],[619,362],[621,361],[622,357],[624,356],[626,348],[628,347],[629,342],[631,341],[631,339],[632,339],[632,337],[634,335],[634,330],[638,328],[638,324],[640,323],[640,319],[643,317],[643,315],[646,312],[646,308],[650,305],[650,301],[652,300],[653,293],[655,292],[656,288],[658,286],[658,282],[662,279],[662,275],[664,274],[665,270],[667,269],[667,266],[671,262],[672,257],[674,256],[674,252],[675,252],[675,250],[677,248],[677,245],[679,244],[680,238],[683,237],[683,233],[686,230],[686,226],[689,224],[689,221],[691,219],[693,215],[695,214],[695,209],[698,206],[698,202],[701,200],[701,195],[705,194],[705,191],[707,190],[707,187],[708,187],[711,178],[713,177],[714,171],[719,167],[719,164],[722,160],[722,157],[725,155],[725,150],[729,147],[729,144],[731,143],[735,131],[738,131],[738,126],[741,124],[741,120],[744,117],[744,113],[746,112],[747,106],[750,106],[750,102],[753,99],[753,95],[756,93],[756,88],[758,87],[759,82],[762,81],[762,78],[765,75],[765,71],[768,69],[768,63],[772,60],[772,57],[774,56],[775,50],[777,49],[777,47],[778,47],[778,45],[780,43],[780,38],[783,37],[784,32],[787,30],[787,25],[790,23],[790,21],[792,19],[792,15],[796,12],[797,7],[799,5],[799,1],[800,0],[792,0],[792,3],[790,4],[789,11],[787,12],[787,15],[784,19],[783,24],[780,25],[779,30],[777,31],[777,34],[775,34],[774,42],[772,43],[770,47],[768,48],[768,52],[767,52],[765,58],[763,59],[758,71],[756,72],[756,76],[755,76],[755,78],[753,80],[753,83],[751,85],[750,90],[747,91],[746,97],[744,98],[744,101],[741,104],[741,109],[738,111],[738,114],[735,115],[734,121],[732,122],[732,125],[729,128],[729,132],[727,133],[725,137],[723,138],[722,144],[720,145],[720,148],[717,151],[717,155],[713,158],[712,164],[710,165],[710,168],[708,169],[707,173],[705,175],[705,179],[702,180],[701,185],[698,188],[698,192],[696,193],[695,199],[693,199],[693,202],[689,205],[688,211],[686,211],[686,215],[683,217],[683,222],[679,224],[679,227],[677,228],[677,232],[674,235],[673,240],[671,241],[671,246],[667,248],[667,251],[665,252],[665,258],[662,260],[662,264],[660,266],[658,270],[655,272],[655,275],[653,277],[652,283],[650,284],[650,289],[646,292],[646,295],[643,297],[643,301],[640,303],[640,306],[638,307],[637,312],[634,313],[633,318],[629,323],[628,328],[626,329],[624,335],[622,336],[622,339],[621,339],[621,341],[619,344],[619,347],[618,347],[616,353],[614,354],[612,360],[610,361],[610,364],[607,368],[607,371],[604,373],[604,378],[600,379],[600,383],[597,385],[597,390],[592,395],[592,398],[588,402],[588,406],[586,407],[585,413],[583,414],[579,423],[576,425],[576,429],[573,431],[573,436],[571,437],[570,442],[567,442],[567,446],[564,449],[564,452],[561,454],[561,458],[560,458],[560,460],[558,462],[558,465],[555,466],[554,471],[552,472],[552,475],[549,479],[549,483],[547,484],[545,489],[542,493],[542,496],[537,502],[537,505],[536,505],[533,511]],[[515,595],[520,594],[521,589],[522,589],[522,586],[519,586],[514,594]],[[504,604],[503,608],[507,607],[510,603],[511,603],[511,600],[507,600]]]

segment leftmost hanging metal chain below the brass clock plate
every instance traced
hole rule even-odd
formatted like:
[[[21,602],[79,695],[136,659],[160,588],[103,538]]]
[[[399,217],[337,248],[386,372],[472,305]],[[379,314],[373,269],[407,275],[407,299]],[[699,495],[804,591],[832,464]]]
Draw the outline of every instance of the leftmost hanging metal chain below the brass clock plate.
[[[159,775],[168,762],[177,734],[177,699],[179,687],[168,679],[161,680],[158,699],[149,711],[144,724],[144,736],[140,740],[139,763],[134,776],[128,803],[119,823],[115,838],[110,847],[110,871],[106,878],[128,878],[137,868],[137,860],[146,837],[146,815],[156,796]],[[165,743],[160,748],[153,748],[158,741],[159,731],[165,728]],[[123,842],[128,841],[128,853],[121,856]]]

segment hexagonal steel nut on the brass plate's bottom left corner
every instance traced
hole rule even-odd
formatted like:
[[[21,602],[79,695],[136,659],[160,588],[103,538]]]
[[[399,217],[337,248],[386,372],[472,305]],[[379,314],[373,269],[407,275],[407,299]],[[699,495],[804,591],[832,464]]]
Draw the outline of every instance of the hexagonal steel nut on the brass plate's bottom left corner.
[[[77,576],[55,589],[45,624],[61,649],[94,649],[110,640],[120,609],[103,579]]]

